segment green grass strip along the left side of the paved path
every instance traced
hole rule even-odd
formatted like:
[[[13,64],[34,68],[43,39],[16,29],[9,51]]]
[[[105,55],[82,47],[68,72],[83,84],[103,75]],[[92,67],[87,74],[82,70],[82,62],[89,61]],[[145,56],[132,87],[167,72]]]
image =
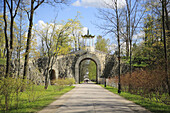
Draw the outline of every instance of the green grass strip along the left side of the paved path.
[[[49,105],[64,93],[70,91],[74,86],[66,86],[61,91],[56,90],[57,86],[49,86],[47,90],[44,90],[44,86],[35,86],[34,92],[26,91],[19,96],[19,107],[16,109],[15,104],[11,106],[9,113],[33,113],[41,110],[45,106]],[[30,97],[29,97],[30,96]],[[33,97],[35,98],[34,101]],[[2,103],[2,102],[1,102]],[[0,110],[0,112],[3,112]]]

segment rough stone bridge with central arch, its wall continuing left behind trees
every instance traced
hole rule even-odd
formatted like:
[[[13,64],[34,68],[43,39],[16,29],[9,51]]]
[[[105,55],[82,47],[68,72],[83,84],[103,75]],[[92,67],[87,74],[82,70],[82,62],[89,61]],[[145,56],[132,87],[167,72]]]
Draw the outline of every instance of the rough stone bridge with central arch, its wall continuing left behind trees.
[[[62,77],[74,78],[76,83],[80,83],[80,64],[84,60],[92,60],[96,64],[96,82],[103,82],[103,77],[112,77],[118,75],[118,61],[116,56],[109,55],[98,50],[79,50],[67,55],[58,56],[52,67],[52,74],[49,76],[49,82]],[[47,57],[39,59],[30,59],[29,73],[27,78],[36,83],[43,84],[45,81],[44,70],[47,68]],[[18,61],[13,60],[12,72],[17,74]],[[24,61],[21,61],[20,76],[23,75]],[[121,61],[121,73],[125,73],[128,66]],[[17,75],[13,75],[17,76]]]

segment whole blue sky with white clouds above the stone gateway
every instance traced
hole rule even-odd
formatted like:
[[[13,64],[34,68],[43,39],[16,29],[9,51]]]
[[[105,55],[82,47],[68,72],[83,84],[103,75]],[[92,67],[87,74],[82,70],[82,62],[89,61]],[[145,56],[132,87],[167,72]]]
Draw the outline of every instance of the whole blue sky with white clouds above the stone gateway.
[[[98,14],[97,8],[106,8],[103,4],[111,4],[112,0],[71,0],[70,5],[61,6],[50,6],[47,4],[41,5],[34,15],[34,24],[50,23],[55,17],[57,17],[57,22],[62,20],[67,21],[68,19],[74,19],[77,12],[81,13],[81,18],[79,19],[82,26],[86,29],[88,28],[91,35],[101,35],[104,33],[102,30],[96,27],[95,24],[100,25],[102,20],[99,20],[96,15]],[[125,0],[118,0],[118,8],[125,5]],[[95,23],[95,24],[94,24]],[[84,29],[86,32],[87,30]],[[109,38],[113,46],[117,45],[116,38],[113,40],[111,35],[103,36],[104,38]],[[95,38],[96,41],[96,38]]]

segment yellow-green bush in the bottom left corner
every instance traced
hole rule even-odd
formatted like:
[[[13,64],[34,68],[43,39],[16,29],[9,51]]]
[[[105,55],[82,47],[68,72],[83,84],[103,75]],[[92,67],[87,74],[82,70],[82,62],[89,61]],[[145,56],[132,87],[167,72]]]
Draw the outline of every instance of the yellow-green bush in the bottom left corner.
[[[22,87],[22,80],[15,79],[11,77],[1,78],[0,80],[0,107],[4,111],[8,111],[13,103],[13,100],[16,100],[14,103],[16,108],[19,104],[19,95],[21,94],[20,90]]]

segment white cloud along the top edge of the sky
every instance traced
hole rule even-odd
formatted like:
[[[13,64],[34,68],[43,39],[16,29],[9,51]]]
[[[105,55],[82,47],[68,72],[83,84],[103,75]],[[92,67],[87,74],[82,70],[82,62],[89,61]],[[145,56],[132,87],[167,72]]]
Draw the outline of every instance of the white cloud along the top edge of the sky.
[[[87,7],[109,8],[110,6],[114,6],[114,2],[113,0],[77,0],[72,5],[77,7],[82,6],[86,8]],[[118,8],[122,8],[124,6],[125,0],[118,0]]]

